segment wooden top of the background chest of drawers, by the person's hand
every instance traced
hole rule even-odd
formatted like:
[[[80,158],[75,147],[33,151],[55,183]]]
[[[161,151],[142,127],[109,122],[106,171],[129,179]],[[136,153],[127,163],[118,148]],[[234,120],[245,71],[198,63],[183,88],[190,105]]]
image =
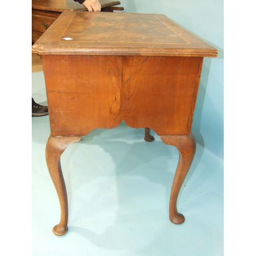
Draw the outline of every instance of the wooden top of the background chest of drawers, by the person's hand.
[[[99,0],[101,8],[120,5],[119,1]],[[32,9],[63,12],[87,10],[84,5],[73,0],[32,0]]]

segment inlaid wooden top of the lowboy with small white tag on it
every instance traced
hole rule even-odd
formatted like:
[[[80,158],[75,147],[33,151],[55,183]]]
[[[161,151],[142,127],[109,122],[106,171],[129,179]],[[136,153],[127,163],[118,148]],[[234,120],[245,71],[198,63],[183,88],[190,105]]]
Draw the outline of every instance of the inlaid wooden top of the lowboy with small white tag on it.
[[[62,13],[32,47],[39,55],[216,57],[217,49],[162,14]]]

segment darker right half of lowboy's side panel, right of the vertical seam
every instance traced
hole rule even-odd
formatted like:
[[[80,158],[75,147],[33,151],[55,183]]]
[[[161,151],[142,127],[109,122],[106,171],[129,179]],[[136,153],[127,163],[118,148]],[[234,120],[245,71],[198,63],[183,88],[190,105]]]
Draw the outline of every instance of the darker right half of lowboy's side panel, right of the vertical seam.
[[[158,135],[191,132],[201,57],[124,57],[121,111],[127,125]]]

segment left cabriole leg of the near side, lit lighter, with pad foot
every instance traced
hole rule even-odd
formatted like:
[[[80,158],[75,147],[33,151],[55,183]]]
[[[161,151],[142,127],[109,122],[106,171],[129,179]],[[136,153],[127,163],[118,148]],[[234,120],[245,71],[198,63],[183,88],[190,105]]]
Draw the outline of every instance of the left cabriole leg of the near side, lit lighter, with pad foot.
[[[57,236],[62,236],[68,231],[68,196],[60,156],[69,144],[80,139],[81,137],[52,137],[50,135],[46,144],[46,163],[60,203],[60,222],[53,227],[53,233]]]

